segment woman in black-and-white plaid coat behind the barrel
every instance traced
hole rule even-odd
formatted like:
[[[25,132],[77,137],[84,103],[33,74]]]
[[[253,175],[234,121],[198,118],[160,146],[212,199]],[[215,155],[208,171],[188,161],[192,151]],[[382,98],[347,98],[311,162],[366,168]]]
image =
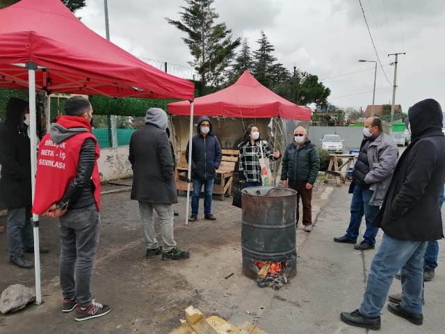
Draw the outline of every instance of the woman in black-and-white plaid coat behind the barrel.
[[[272,152],[267,141],[260,138],[259,129],[255,125],[249,125],[245,130],[244,141],[238,145],[238,176],[244,181],[244,186],[261,186],[261,158],[260,145],[265,157],[270,160],[280,158],[280,152]]]

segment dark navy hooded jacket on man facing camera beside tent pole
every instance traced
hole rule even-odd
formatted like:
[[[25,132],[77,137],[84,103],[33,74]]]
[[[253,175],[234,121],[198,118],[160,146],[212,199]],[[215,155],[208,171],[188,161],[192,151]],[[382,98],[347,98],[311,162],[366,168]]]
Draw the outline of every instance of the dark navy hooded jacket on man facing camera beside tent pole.
[[[220,142],[212,133],[210,123],[210,132],[207,136],[202,136],[200,125],[204,120],[210,122],[207,116],[202,116],[197,123],[197,133],[192,138],[192,179],[209,180],[216,177],[216,170],[220,167],[223,153],[221,152]],[[188,145],[186,149],[186,159],[188,162]]]

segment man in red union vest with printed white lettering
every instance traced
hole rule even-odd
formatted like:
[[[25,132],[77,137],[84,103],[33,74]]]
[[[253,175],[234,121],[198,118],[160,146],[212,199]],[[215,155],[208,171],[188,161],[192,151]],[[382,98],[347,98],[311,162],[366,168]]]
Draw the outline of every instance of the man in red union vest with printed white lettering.
[[[39,144],[33,202],[33,213],[59,220],[61,309],[75,309],[76,321],[111,311],[92,299],[90,289],[100,228],[100,150],[91,121],[86,98],[65,102],[65,116]]]

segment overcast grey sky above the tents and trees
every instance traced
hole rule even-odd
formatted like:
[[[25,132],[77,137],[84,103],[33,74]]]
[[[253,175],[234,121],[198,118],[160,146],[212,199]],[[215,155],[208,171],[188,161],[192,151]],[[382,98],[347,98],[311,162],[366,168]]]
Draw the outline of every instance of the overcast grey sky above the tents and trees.
[[[103,0],[86,3],[76,15],[105,35]],[[187,65],[191,55],[181,40],[184,34],[164,19],[178,18],[184,3],[108,0],[111,41],[135,56]],[[389,79],[379,65],[375,104],[391,102],[387,87],[394,79],[389,66],[394,56],[387,54],[401,51],[407,54],[399,56],[396,103],[404,111],[428,97],[444,104],[444,1],[362,0],[362,5]],[[247,37],[252,49],[264,30],[278,61],[289,70],[296,66],[318,75],[332,90],[332,104],[365,108],[372,103],[374,65],[357,61],[376,56],[359,0],[216,0],[214,7],[234,37]]]

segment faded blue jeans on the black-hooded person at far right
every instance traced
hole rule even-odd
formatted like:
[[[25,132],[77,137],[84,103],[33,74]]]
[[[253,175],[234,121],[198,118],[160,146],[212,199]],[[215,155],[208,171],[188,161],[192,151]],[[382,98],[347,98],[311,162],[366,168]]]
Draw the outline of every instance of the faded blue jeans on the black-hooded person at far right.
[[[423,254],[427,241],[405,241],[383,234],[382,244],[371,262],[366,291],[359,312],[365,317],[379,317],[394,275],[401,270],[401,307],[422,314]]]

